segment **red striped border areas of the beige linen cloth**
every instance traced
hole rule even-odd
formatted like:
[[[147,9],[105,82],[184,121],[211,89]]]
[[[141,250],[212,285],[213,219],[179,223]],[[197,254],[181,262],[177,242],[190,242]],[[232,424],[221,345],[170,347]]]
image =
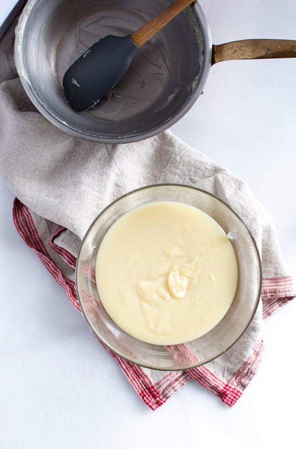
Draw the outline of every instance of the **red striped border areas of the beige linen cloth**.
[[[17,199],[13,204],[13,221],[24,242],[34,249],[54,279],[66,290],[73,306],[81,312],[73,280],[76,257],[55,242],[56,238],[66,232],[67,229],[54,224],[48,226],[48,222],[45,223],[45,220],[36,217]],[[47,228],[45,235],[42,223]],[[40,233],[36,226],[40,228]],[[51,251],[54,251],[66,263],[69,268],[68,275],[63,272],[62,266],[57,266],[50,255]],[[266,319],[271,316],[294,296],[295,290],[290,276],[264,278],[262,309],[260,308],[262,318]],[[225,404],[232,407],[257,372],[262,359],[264,341],[263,339],[259,340],[252,349],[250,356],[227,380],[220,379],[207,366],[184,371],[153,372],[121,359],[107,348],[106,350],[119,364],[137,394],[152,410],[156,410],[164,404],[176,391],[191,380],[199,382],[221,398]]]

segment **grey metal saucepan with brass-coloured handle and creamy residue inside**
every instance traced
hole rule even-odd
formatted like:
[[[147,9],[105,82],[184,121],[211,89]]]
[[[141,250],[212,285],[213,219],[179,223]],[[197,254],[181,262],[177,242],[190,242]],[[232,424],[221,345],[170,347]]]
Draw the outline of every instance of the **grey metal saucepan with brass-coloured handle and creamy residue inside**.
[[[130,34],[172,0],[29,0],[15,29],[14,58],[35,107],[59,129],[100,143],[127,143],[171,127],[195,104],[211,66],[231,59],[296,57],[296,40],[213,45],[195,1],[144,44],[104,98],[84,112],[67,103],[67,68],[107,34]]]

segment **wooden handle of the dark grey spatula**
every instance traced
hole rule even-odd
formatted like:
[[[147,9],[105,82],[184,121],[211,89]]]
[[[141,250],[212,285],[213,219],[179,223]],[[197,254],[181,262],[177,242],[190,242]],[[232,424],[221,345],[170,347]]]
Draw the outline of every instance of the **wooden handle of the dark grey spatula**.
[[[176,0],[166,9],[164,9],[160,14],[156,15],[144,26],[139,28],[137,31],[131,34],[131,38],[135,44],[140,47],[147,40],[150,39],[157,31],[163,28],[170,20],[172,20],[176,15],[179,14],[183,9],[185,9],[189,4],[193,3],[195,0]]]

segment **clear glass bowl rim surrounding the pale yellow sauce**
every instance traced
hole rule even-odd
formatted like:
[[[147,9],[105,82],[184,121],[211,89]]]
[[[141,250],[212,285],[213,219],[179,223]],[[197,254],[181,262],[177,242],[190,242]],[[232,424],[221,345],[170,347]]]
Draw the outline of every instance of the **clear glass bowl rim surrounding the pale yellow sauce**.
[[[106,312],[96,286],[96,257],[111,225],[132,209],[157,201],[188,204],[211,216],[231,233],[238,262],[234,300],[224,318],[205,335],[177,345],[154,345],[124,332]],[[87,230],[78,254],[76,287],[81,310],[97,338],[118,356],[156,370],[184,370],[204,365],[236,343],[256,312],[262,285],[260,255],[254,238],[242,219],[226,203],[203,190],[176,184],[147,186],[111,203]]]

